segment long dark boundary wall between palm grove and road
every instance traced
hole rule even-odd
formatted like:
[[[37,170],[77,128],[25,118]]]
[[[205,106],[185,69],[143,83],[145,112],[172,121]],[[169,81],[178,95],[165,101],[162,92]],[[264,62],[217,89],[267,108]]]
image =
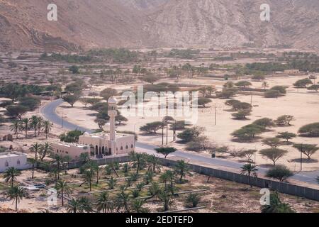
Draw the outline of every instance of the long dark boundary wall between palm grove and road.
[[[177,161],[175,160],[168,160],[162,157],[158,157],[161,160],[162,165],[167,167],[172,167],[176,164]],[[99,165],[106,165],[110,162],[128,162],[130,161],[130,157],[128,155],[118,156],[118,157],[107,157],[99,160],[93,160],[97,162]],[[83,162],[70,162],[69,169],[78,168],[83,164]],[[207,175],[211,177],[216,177],[220,179],[230,180],[232,182],[237,182],[241,184],[249,184],[249,179],[245,175],[240,175],[239,173],[235,172],[228,172],[225,170],[217,170],[211,167],[203,167],[201,165],[194,165],[188,164],[189,169],[193,170],[194,172]],[[293,196],[299,196],[306,199],[312,199],[315,201],[319,201],[319,190],[318,189],[311,189],[308,187],[302,187],[295,184],[289,184],[285,182],[278,182],[272,179],[264,179],[260,177],[252,177],[251,184],[255,187],[259,188],[268,188],[275,190],[277,192],[281,192],[284,194],[291,194]]]

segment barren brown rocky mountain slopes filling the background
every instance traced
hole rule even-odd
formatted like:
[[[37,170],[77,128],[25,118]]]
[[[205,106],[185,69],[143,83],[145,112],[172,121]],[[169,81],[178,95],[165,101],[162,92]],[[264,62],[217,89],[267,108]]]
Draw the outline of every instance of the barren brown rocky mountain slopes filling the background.
[[[0,48],[233,48],[290,45],[319,50],[318,0],[0,0]],[[267,3],[271,20],[261,21]]]

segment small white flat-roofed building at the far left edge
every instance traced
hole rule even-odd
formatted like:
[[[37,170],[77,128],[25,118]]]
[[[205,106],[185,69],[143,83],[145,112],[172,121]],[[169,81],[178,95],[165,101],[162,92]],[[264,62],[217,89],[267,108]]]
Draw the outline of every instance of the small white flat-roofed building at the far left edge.
[[[26,170],[29,167],[27,155],[16,151],[0,153],[0,172],[5,172],[10,167]]]

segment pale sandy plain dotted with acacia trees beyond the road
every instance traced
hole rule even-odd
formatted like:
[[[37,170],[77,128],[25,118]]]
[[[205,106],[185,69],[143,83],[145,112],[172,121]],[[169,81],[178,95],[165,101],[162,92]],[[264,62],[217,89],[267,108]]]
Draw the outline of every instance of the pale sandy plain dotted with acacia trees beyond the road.
[[[314,123],[319,121],[319,93],[308,92],[307,89],[295,89],[292,84],[298,79],[303,79],[305,76],[291,76],[291,77],[276,77],[269,78],[267,82],[269,87],[276,85],[283,85],[289,87],[288,94],[279,99],[266,99],[263,96],[253,96],[252,104],[254,106],[252,115],[249,116],[246,121],[236,121],[232,119],[232,112],[229,111],[229,106],[225,106],[225,100],[223,99],[213,99],[211,107],[206,109],[199,109],[198,111],[198,123],[196,126],[202,126],[206,128],[205,135],[211,140],[212,143],[216,145],[228,145],[230,149],[257,149],[261,150],[267,148],[263,145],[260,140],[256,143],[236,143],[232,141],[232,136],[230,135],[238,128],[252,123],[259,118],[272,118],[276,119],[279,116],[289,114],[296,118],[293,121],[293,126],[290,127],[277,127],[272,128],[272,131],[263,133],[262,138],[271,138],[276,136],[279,132],[289,131],[291,133],[297,133],[301,126],[308,123]],[[213,81],[211,79],[181,79],[179,83],[189,83],[189,84],[205,84],[214,85],[220,89],[225,82]],[[253,87],[262,88],[262,82],[252,82]],[[106,86],[106,87],[109,87]],[[132,86],[131,86],[132,87]],[[104,89],[105,87],[99,87]],[[116,87],[118,89],[127,89],[128,87]],[[240,101],[251,101],[251,96],[238,95],[235,97]],[[65,117],[65,120],[72,123],[77,123],[79,126],[86,128],[98,128],[97,124],[94,123],[94,116],[89,116],[89,114],[94,113],[88,109],[84,109],[82,104],[75,104],[74,108],[69,108],[68,104],[63,104],[57,109],[57,114]],[[215,106],[217,106],[217,121],[216,126],[214,122]],[[63,112],[63,113],[62,113]],[[76,116],[76,117],[74,117]],[[135,131],[140,134],[140,126],[144,126],[145,123],[152,121],[160,121],[162,118],[159,117],[130,117],[128,123],[125,126],[118,126],[118,131]],[[182,120],[177,118],[177,120]],[[158,135],[139,135],[139,141],[144,143],[151,143],[155,145],[162,144],[161,130],[159,130]],[[164,132],[166,133],[166,132]],[[172,141],[172,131],[169,131],[169,142]],[[166,135],[164,136],[164,143],[166,143]],[[303,138],[298,137],[291,140],[295,143],[312,143],[318,144],[318,138]],[[169,143],[174,147],[179,149],[184,149],[184,145],[179,143]],[[300,159],[300,153],[291,146],[282,146],[281,148],[289,151],[289,154],[279,160],[279,164],[287,165],[291,170],[299,170],[299,163],[293,160]],[[306,157],[304,157],[306,158]],[[313,155],[313,160],[319,160],[319,152]],[[261,155],[256,155],[257,165],[269,165],[272,162],[270,160],[264,159]],[[319,170],[319,164],[316,161],[305,162],[303,165],[303,171]]]

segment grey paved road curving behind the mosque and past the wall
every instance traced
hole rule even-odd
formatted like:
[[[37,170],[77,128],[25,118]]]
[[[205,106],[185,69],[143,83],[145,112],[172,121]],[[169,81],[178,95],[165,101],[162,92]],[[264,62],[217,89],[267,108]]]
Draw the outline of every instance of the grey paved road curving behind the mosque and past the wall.
[[[83,127],[75,125],[74,123],[70,123],[68,121],[62,120],[62,117],[58,116],[55,112],[55,110],[57,109],[57,106],[60,106],[62,103],[63,103],[62,99],[57,99],[55,101],[52,101],[46,106],[43,106],[43,108],[40,109],[40,112],[41,114],[43,114],[43,116],[45,116],[45,118],[47,118],[47,120],[52,121],[52,123],[55,123],[59,126],[62,126],[63,124],[63,127],[65,129],[68,129],[68,130],[78,129],[80,131],[86,131],[88,133],[94,132],[93,130],[89,128],[83,128]],[[155,154],[154,148],[156,148],[156,146],[137,142],[136,148],[149,154]],[[240,167],[242,167],[242,163],[240,162],[233,162],[230,160],[223,160],[219,158],[203,157],[201,155],[184,153],[182,151],[175,152],[174,156],[183,157],[189,160],[196,160],[198,162],[204,162],[211,165],[233,168],[235,170],[240,170]],[[258,170],[259,170],[258,171],[259,173],[264,174],[267,171],[267,168],[258,167]],[[315,179],[317,176],[319,176],[319,171],[300,172],[294,175],[293,177],[291,177],[291,179],[296,179],[301,182],[308,182],[310,184],[318,184],[317,180]]]

